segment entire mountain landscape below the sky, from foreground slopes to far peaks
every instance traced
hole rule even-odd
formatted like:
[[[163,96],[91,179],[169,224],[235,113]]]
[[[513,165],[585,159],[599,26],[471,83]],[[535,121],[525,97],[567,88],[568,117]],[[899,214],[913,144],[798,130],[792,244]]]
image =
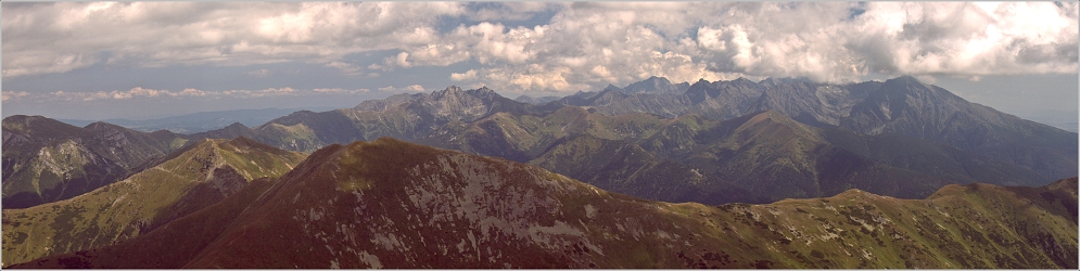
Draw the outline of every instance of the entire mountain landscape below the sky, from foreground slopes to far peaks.
[[[2,266],[1075,269],[1077,139],[912,77],[11,116]]]

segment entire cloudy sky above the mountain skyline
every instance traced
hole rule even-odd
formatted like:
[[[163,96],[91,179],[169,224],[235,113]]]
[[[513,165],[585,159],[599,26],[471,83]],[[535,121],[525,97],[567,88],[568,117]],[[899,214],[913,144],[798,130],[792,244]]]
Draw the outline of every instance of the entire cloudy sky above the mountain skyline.
[[[352,107],[452,85],[567,95],[650,76],[912,75],[1044,122],[1076,122],[1080,103],[1071,1],[0,7],[4,117]]]

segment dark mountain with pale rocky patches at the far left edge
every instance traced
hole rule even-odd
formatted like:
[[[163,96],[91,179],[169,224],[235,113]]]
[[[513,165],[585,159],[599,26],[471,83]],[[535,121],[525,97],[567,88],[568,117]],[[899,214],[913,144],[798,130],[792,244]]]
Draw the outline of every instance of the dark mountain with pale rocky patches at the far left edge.
[[[85,128],[41,116],[3,119],[3,207],[71,198],[122,180],[187,140],[105,122]]]

